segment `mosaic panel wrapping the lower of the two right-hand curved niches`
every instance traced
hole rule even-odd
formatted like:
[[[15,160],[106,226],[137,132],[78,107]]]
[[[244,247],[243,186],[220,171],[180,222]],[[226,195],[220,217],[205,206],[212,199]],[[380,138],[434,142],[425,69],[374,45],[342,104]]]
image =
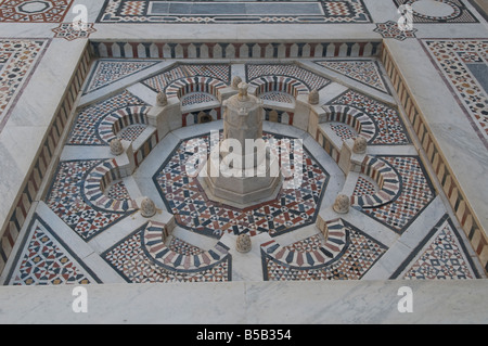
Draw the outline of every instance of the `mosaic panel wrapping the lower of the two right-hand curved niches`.
[[[416,156],[376,156],[373,159],[386,164],[395,171],[395,176],[400,178],[400,193],[396,193],[390,203],[359,209],[401,234],[434,200],[435,190]],[[358,192],[355,192],[355,195],[357,194]]]

